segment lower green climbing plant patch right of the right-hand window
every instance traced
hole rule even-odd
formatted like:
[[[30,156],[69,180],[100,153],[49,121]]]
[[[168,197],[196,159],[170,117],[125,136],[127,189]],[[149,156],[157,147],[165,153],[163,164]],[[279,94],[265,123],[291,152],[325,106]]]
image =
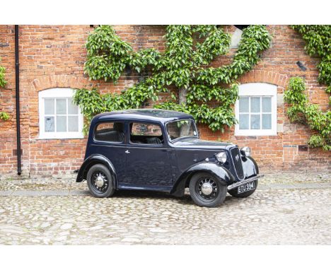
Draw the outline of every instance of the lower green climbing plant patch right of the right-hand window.
[[[284,92],[284,100],[289,103],[287,115],[291,122],[308,124],[317,134],[310,136],[308,145],[331,150],[331,111],[323,112],[316,104],[310,104],[304,91],[303,78],[294,77],[289,81],[289,87]]]

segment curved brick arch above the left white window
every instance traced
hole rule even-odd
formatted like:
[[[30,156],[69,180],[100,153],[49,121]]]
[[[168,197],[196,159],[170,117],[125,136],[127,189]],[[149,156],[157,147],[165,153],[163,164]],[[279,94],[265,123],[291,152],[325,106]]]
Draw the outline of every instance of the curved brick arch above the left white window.
[[[73,75],[42,76],[33,80],[33,86],[37,92],[49,88],[83,88],[88,84],[86,78]]]

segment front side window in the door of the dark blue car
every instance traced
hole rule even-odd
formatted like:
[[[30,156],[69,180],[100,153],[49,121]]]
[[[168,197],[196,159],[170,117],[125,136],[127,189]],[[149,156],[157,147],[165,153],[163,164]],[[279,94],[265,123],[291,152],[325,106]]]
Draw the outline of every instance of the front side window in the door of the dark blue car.
[[[130,142],[161,145],[162,129],[158,124],[133,122],[130,124]]]

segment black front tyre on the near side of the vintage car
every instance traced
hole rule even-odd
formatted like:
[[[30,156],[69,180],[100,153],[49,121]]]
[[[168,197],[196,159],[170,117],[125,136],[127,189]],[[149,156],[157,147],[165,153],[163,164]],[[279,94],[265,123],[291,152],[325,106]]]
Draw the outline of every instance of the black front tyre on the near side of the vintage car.
[[[212,186],[212,192],[209,195],[205,195],[202,192],[201,187],[204,182],[208,182]],[[223,201],[226,199],[226,190],[226,185],[217,180],[216,177],[205,172],[193,175],[190,181],[190,195],[198,206],[216,207],[223,204]]]

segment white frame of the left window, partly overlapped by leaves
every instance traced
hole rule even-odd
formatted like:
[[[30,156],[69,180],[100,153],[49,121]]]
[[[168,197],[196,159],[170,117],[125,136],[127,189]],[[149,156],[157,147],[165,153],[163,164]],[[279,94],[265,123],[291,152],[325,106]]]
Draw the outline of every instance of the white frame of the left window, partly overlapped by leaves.
[[[39,138],[38,139],[82,139],[83,115],[79,108],[79,131],[45,132],[45,99],[46,98],[72,98],[74,90],[71,88],[50,88],[38,93],[39,102]],[[54,107],[56,110],[56,107]]]

